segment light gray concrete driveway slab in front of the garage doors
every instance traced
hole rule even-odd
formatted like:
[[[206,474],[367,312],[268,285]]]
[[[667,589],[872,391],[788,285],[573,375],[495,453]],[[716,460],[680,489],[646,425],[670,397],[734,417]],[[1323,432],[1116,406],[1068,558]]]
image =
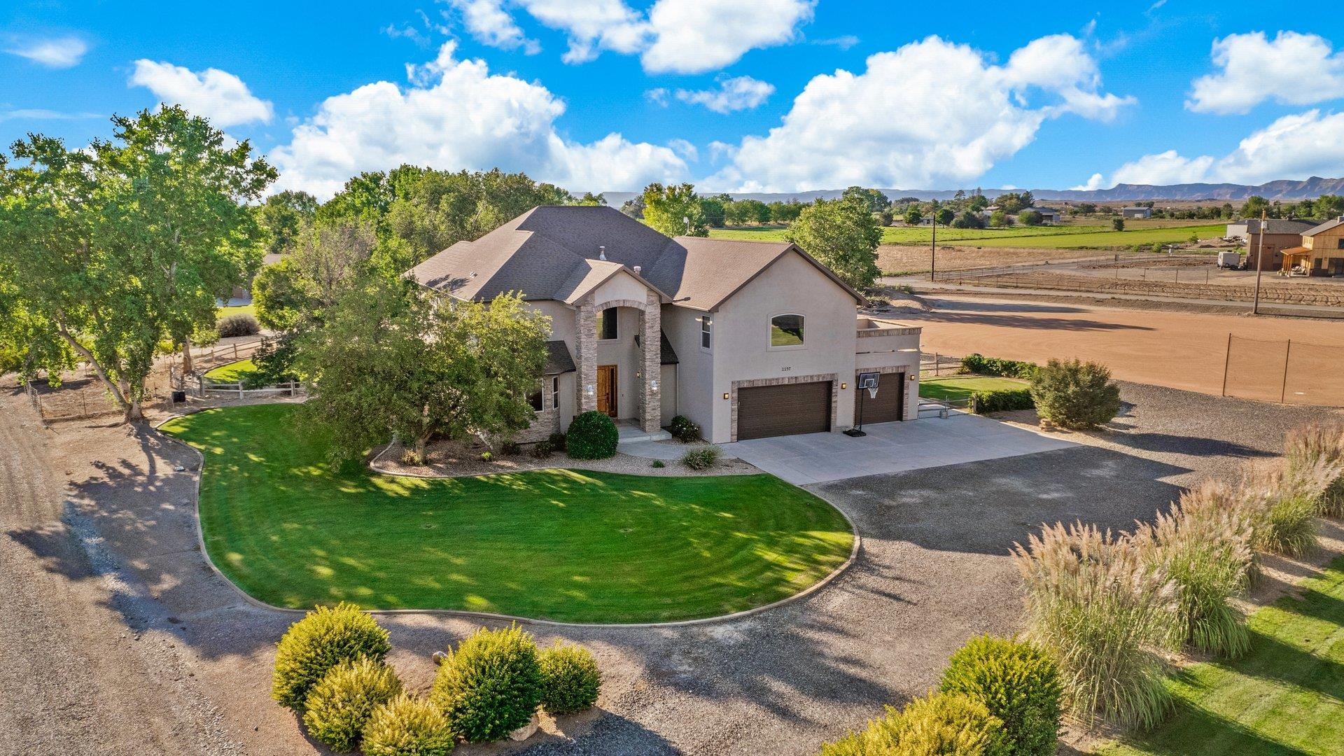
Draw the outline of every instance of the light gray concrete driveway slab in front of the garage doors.
[[[864,475],[906,472],[1017,455],[1066,449],[1075,444],[980,417],[953,414],[866,425],[867,436],[805,433],[724,444],[723,452],[794,486]]]

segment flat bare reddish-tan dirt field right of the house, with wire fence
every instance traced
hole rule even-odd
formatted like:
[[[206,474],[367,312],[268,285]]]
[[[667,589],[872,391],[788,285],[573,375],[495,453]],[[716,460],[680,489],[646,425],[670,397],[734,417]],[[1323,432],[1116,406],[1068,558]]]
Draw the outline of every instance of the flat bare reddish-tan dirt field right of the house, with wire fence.
[[[1134,311],[1083,304],[934,296],[931,312],[902,315],[923,327],[926,352],[1044,362],[1091,359],[1124,381],[1219,394],[1228,334],[1238,339],[1228,394],[1297,404],[1344,404],[1344,323]],[[1286,340],[1294,339],[1293,354]],[[1316,350],[1306,344],[1333,347]],[[1289,365],[1288,381],[1284,366]]]

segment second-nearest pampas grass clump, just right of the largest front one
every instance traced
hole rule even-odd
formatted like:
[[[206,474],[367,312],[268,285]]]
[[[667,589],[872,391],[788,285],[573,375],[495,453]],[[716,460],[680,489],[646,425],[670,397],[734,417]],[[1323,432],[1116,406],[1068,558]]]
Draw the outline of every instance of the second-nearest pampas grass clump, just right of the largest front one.
[[[1250,648],[1246,619],[1231,599],[1254,569],[1250,515],[1236,495],[1215,482],[1181,494],[1171,513],[1140,523],[1140,558],[1176,589],[1177,636],[1200,651],[1239,656]]]

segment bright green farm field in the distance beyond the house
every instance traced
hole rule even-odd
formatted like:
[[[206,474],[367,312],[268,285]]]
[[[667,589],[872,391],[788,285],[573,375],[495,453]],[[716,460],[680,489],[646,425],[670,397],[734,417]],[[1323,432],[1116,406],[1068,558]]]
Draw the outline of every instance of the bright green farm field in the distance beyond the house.
[[[1184,242],[1191,234],[1200,238],[1220,237],[1227,230],[1218,225],[1172,226],[1165,229],[1128,229],[1113,231],[1110,226],[1016,226],[1012,229],[938,229],[938,243],[962,246],[1009,246],[1044,249],[1111,249],[1136,243]],[[710,229],[710,237],[722,239],[781,241],[782,229]],[[882,230],[882,243],[926,245],[933,230],[927,226],[914,229],[887,227]]]

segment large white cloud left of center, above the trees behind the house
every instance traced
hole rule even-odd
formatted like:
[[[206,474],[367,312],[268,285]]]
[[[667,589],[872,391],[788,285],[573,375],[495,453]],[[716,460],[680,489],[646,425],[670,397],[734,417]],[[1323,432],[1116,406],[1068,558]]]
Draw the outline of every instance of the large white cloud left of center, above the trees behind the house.
[[[320,198],[362,171],[402,163],[444,169],[526,171],[575,191],[629,191],[649,182],[684,180],[685,161],[669,147],[632,143],[620,133],[582,144],[555,121],[564,102],[544,86],[492,74],[484,61],[456,58],[448,42],[410,83],[367,83],[327,98],[271,151],[281,171],[276,190]]]

